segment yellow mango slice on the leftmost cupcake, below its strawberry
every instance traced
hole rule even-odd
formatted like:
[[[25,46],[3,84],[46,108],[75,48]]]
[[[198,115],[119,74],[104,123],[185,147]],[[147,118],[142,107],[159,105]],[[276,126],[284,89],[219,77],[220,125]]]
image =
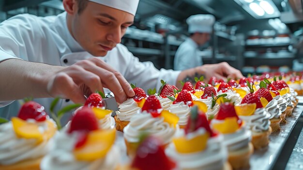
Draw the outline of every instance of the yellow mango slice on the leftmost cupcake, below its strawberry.
[[[17,137],[24,139],[38,139],[38,141],[42,141],[43,135],[39,131],[39,126],[37,124],[28,123],[17,117],[12,118],[12,124]]]

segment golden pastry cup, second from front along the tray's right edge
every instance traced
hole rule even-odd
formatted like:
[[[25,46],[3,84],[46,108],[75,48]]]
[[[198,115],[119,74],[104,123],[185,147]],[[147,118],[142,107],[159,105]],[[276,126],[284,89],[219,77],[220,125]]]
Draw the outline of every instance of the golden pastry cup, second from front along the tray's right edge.
[[[253,132],[252,143],[255,149],[260,149],[269,144],[269,135],[272,133],[272,127],[269,127],[267,131]]]

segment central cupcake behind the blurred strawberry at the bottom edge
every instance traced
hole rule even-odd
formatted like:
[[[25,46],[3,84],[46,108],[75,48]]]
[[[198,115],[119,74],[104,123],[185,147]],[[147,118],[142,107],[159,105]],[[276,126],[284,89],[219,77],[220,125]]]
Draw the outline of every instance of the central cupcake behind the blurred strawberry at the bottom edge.
[[[142,133],[162,139],[164,146],[167,146],[179,128],[178,121],[178,116],[163,110],[157,97],[150,95],[139,113],[132,117],[123,130],[127,154],[131,157],[136,154]]]

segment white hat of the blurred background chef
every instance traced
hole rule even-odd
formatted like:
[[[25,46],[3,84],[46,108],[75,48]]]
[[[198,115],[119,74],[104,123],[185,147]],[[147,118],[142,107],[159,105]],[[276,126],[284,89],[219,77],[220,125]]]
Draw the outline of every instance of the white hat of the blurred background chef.
[[[188,24],[188,32],[211,33],[214,21],[215,18],[213,15],[205,15],[205,14],[191,15],[186,19],[186,23]]]

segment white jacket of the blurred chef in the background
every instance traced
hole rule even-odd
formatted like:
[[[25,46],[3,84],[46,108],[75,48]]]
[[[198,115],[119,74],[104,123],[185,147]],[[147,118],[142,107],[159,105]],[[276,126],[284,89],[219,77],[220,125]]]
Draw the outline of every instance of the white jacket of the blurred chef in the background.
[[[178,48],[174,59],[174,70],[186,70],[203,64],[197,43],[187,38]]]

